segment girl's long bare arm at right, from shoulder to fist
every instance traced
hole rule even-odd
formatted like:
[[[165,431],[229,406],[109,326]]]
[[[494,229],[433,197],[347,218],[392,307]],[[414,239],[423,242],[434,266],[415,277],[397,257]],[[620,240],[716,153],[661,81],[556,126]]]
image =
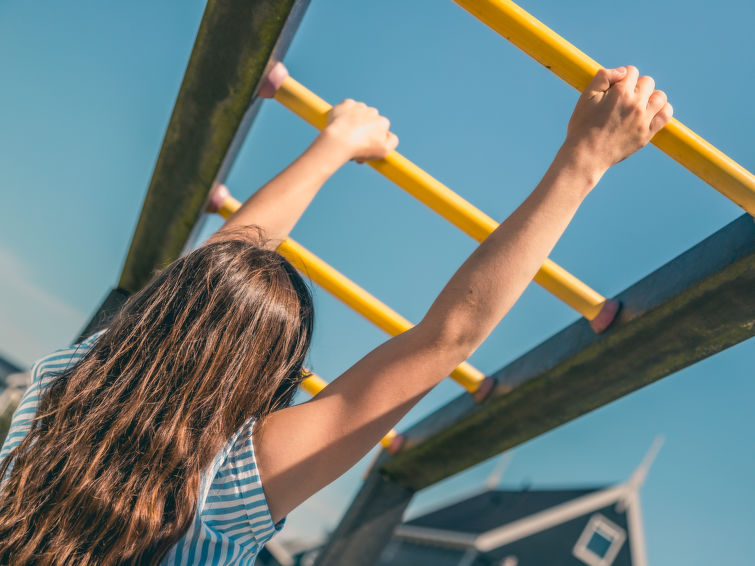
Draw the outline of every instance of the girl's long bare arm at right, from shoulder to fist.
[[[601,70],[566,141],[524,203],[464,262],[424,319],[311,401],[257,431],[260,474],[280,519],[336,479],[480,343],[508,312],[603,173],[660,130],[671,107],[634,67]]]

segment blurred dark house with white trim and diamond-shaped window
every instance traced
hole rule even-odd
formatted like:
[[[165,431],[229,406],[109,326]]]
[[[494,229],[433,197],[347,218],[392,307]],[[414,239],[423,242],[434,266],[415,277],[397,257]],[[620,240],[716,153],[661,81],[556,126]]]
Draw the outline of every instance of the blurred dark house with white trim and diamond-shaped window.
[[[656,441],[623,484],[489,489],[401,525],[380,566],[646,566],[639,490]]]

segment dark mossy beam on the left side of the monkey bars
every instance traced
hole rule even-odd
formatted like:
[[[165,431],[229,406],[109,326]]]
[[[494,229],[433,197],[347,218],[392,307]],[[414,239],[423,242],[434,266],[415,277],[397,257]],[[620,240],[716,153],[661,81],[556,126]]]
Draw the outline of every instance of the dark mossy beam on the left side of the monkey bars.
[[[180,255],[221,166],[226,171],[230,167],[231,160],[225,158],[232,145],[240,143],[237,133],[248,129],[261,79],[283,57],[308,4],[309,0],[208,1],[120,290],[138,291],[156,269]]]

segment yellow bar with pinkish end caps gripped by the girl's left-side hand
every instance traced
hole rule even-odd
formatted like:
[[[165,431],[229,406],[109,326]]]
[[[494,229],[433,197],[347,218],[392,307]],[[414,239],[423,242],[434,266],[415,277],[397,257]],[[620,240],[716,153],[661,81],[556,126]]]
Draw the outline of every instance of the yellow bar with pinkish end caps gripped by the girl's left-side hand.
[[[273,67],[260,96],[275,98],[320,130],[326,126],[332,108],[288,76],[281,63]],[[367,163],[477,241],[487,238],[498,226],[487,214],[395,151],[385,159]],[[581,313],[596,332],[605,330],[618,311],[617,302],[606,299],[549,259],[545,260],[534,281]]]

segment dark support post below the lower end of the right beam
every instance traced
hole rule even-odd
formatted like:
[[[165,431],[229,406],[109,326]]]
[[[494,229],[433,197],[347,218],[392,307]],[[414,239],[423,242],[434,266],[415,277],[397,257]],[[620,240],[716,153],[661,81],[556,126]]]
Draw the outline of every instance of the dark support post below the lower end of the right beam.
[[[376,563],[413,496],[413,490],[390,481],[373,466],[315,566]]]

